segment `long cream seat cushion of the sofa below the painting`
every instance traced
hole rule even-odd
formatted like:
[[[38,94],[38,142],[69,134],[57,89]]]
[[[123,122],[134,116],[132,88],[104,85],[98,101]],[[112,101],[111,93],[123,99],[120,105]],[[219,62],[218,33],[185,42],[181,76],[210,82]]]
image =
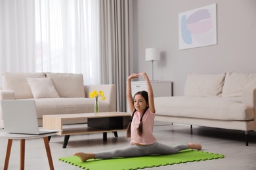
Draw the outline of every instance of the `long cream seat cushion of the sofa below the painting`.
[[[156,114],[213,120],[252,120],[253,107],[221,97],[155,97]]]

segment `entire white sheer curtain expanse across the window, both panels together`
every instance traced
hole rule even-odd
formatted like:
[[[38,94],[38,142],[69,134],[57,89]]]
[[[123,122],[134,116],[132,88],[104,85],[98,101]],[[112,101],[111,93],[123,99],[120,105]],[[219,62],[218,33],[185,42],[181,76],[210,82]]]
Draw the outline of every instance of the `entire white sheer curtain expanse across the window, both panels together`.
[[[100,84],[99,0],[1,0],[0,71],[82,73]]]

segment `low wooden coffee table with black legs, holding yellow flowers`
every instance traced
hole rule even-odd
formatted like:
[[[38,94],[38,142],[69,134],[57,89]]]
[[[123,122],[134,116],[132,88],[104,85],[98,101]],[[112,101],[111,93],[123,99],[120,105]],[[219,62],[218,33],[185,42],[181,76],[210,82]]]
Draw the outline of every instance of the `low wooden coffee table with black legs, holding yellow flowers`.
[[[65,120],[74,121],[83,118],[87,118],[87,127],[63,127]],[[103,140],[106,141],[107,132],[114,132],[115,137],[117,137],[117,131],[126,130],[130,120],[131,113],[129,112],[51,114],[43,115],[43,129],[59,130],[56,135],[65,136],[62,148],[66,148],[70,135],[103,133]]]

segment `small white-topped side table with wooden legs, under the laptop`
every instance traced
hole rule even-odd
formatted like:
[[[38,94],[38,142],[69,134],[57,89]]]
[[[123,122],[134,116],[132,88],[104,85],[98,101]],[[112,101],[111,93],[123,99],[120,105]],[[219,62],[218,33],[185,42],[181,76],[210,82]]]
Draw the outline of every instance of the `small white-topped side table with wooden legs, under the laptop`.
[[[20,169],[24,169],[24,167],[25,167],[25,163],[24,163],[25,162],[25,140],[26,139],[43,138],[43,141],[45,142],[45,149],[47,152],[49,166],[50,166],[50,169],[53,170],[54,169],[53,158],[51,155],[48,137],[55,135],[56,133],[58,133],[58,132],[47,133],[47,134],[43,134],[43,135],[26,135],[26,134],[14,134],[14,133],[1,132],[0,137],[8,139],[4,169],[8,169],[9,159],[10,159],[10,155],[11,155],[11,148],[12,148],[12,140],[20,140]]]

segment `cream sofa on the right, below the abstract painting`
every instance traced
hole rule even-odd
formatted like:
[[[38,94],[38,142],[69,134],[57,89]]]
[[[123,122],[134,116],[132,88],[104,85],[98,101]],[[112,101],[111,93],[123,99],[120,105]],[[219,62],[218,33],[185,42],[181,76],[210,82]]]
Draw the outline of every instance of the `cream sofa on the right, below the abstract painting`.
[[[156,97],[156,120],[256,131],[256,74],[228,71],[186,78],[184,96]]]

